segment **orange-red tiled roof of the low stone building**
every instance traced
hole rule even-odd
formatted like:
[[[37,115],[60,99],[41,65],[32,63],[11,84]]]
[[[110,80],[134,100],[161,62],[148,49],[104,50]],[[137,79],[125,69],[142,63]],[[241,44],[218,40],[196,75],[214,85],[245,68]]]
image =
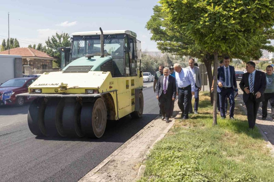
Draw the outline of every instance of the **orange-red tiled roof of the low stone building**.
[[[55,59],[46,53],[42,51],[38,51],[33,48],[28,48],[28,47],[17,47],[9,50],[5,50],[0,52],[0,54],[13,54],[13,55],[20,55],[22,58],[44,58],[44,59]]]

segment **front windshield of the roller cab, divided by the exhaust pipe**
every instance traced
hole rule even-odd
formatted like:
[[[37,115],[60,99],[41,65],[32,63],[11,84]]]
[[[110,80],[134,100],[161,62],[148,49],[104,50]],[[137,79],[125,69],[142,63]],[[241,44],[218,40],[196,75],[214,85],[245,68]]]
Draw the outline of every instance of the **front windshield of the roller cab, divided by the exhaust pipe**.
[[[72,59],[87,54],[101,55],[100,35],[74,36],[72,43]],[[104,35],[105,56],[124,57],[124,35]]]

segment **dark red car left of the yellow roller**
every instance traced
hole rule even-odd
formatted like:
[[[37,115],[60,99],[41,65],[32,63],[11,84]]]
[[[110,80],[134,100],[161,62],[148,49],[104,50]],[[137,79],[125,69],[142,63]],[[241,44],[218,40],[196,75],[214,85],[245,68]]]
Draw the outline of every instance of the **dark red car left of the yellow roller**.
[[[26,102],[32,101],[35,97],[15,97],[19,93],[28,92],[30,86],[36,78],[13,78],[0,85],[0,105],[16,104],[23,106]]]

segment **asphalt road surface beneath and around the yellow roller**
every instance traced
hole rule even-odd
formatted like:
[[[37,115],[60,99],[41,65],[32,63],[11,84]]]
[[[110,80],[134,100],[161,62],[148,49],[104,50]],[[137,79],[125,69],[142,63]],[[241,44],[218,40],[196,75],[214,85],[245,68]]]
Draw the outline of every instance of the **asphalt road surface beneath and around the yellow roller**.
[[[159,114],[153,83],[144,83],[143,117],[107,122],[100,139],[34,136],[29,104],[0,106],[0,181],[78,181]]]

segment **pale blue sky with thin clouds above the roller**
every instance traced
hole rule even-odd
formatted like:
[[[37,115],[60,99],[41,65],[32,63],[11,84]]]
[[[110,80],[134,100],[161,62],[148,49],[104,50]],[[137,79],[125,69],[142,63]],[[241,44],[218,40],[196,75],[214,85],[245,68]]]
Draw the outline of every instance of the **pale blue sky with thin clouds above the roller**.
[[[0,42],[16,38],[20,47],[42,43],[56,32],[131,30],[137,33],[142,50],[158,51],[146,22],[158,0],[0,0]]]

